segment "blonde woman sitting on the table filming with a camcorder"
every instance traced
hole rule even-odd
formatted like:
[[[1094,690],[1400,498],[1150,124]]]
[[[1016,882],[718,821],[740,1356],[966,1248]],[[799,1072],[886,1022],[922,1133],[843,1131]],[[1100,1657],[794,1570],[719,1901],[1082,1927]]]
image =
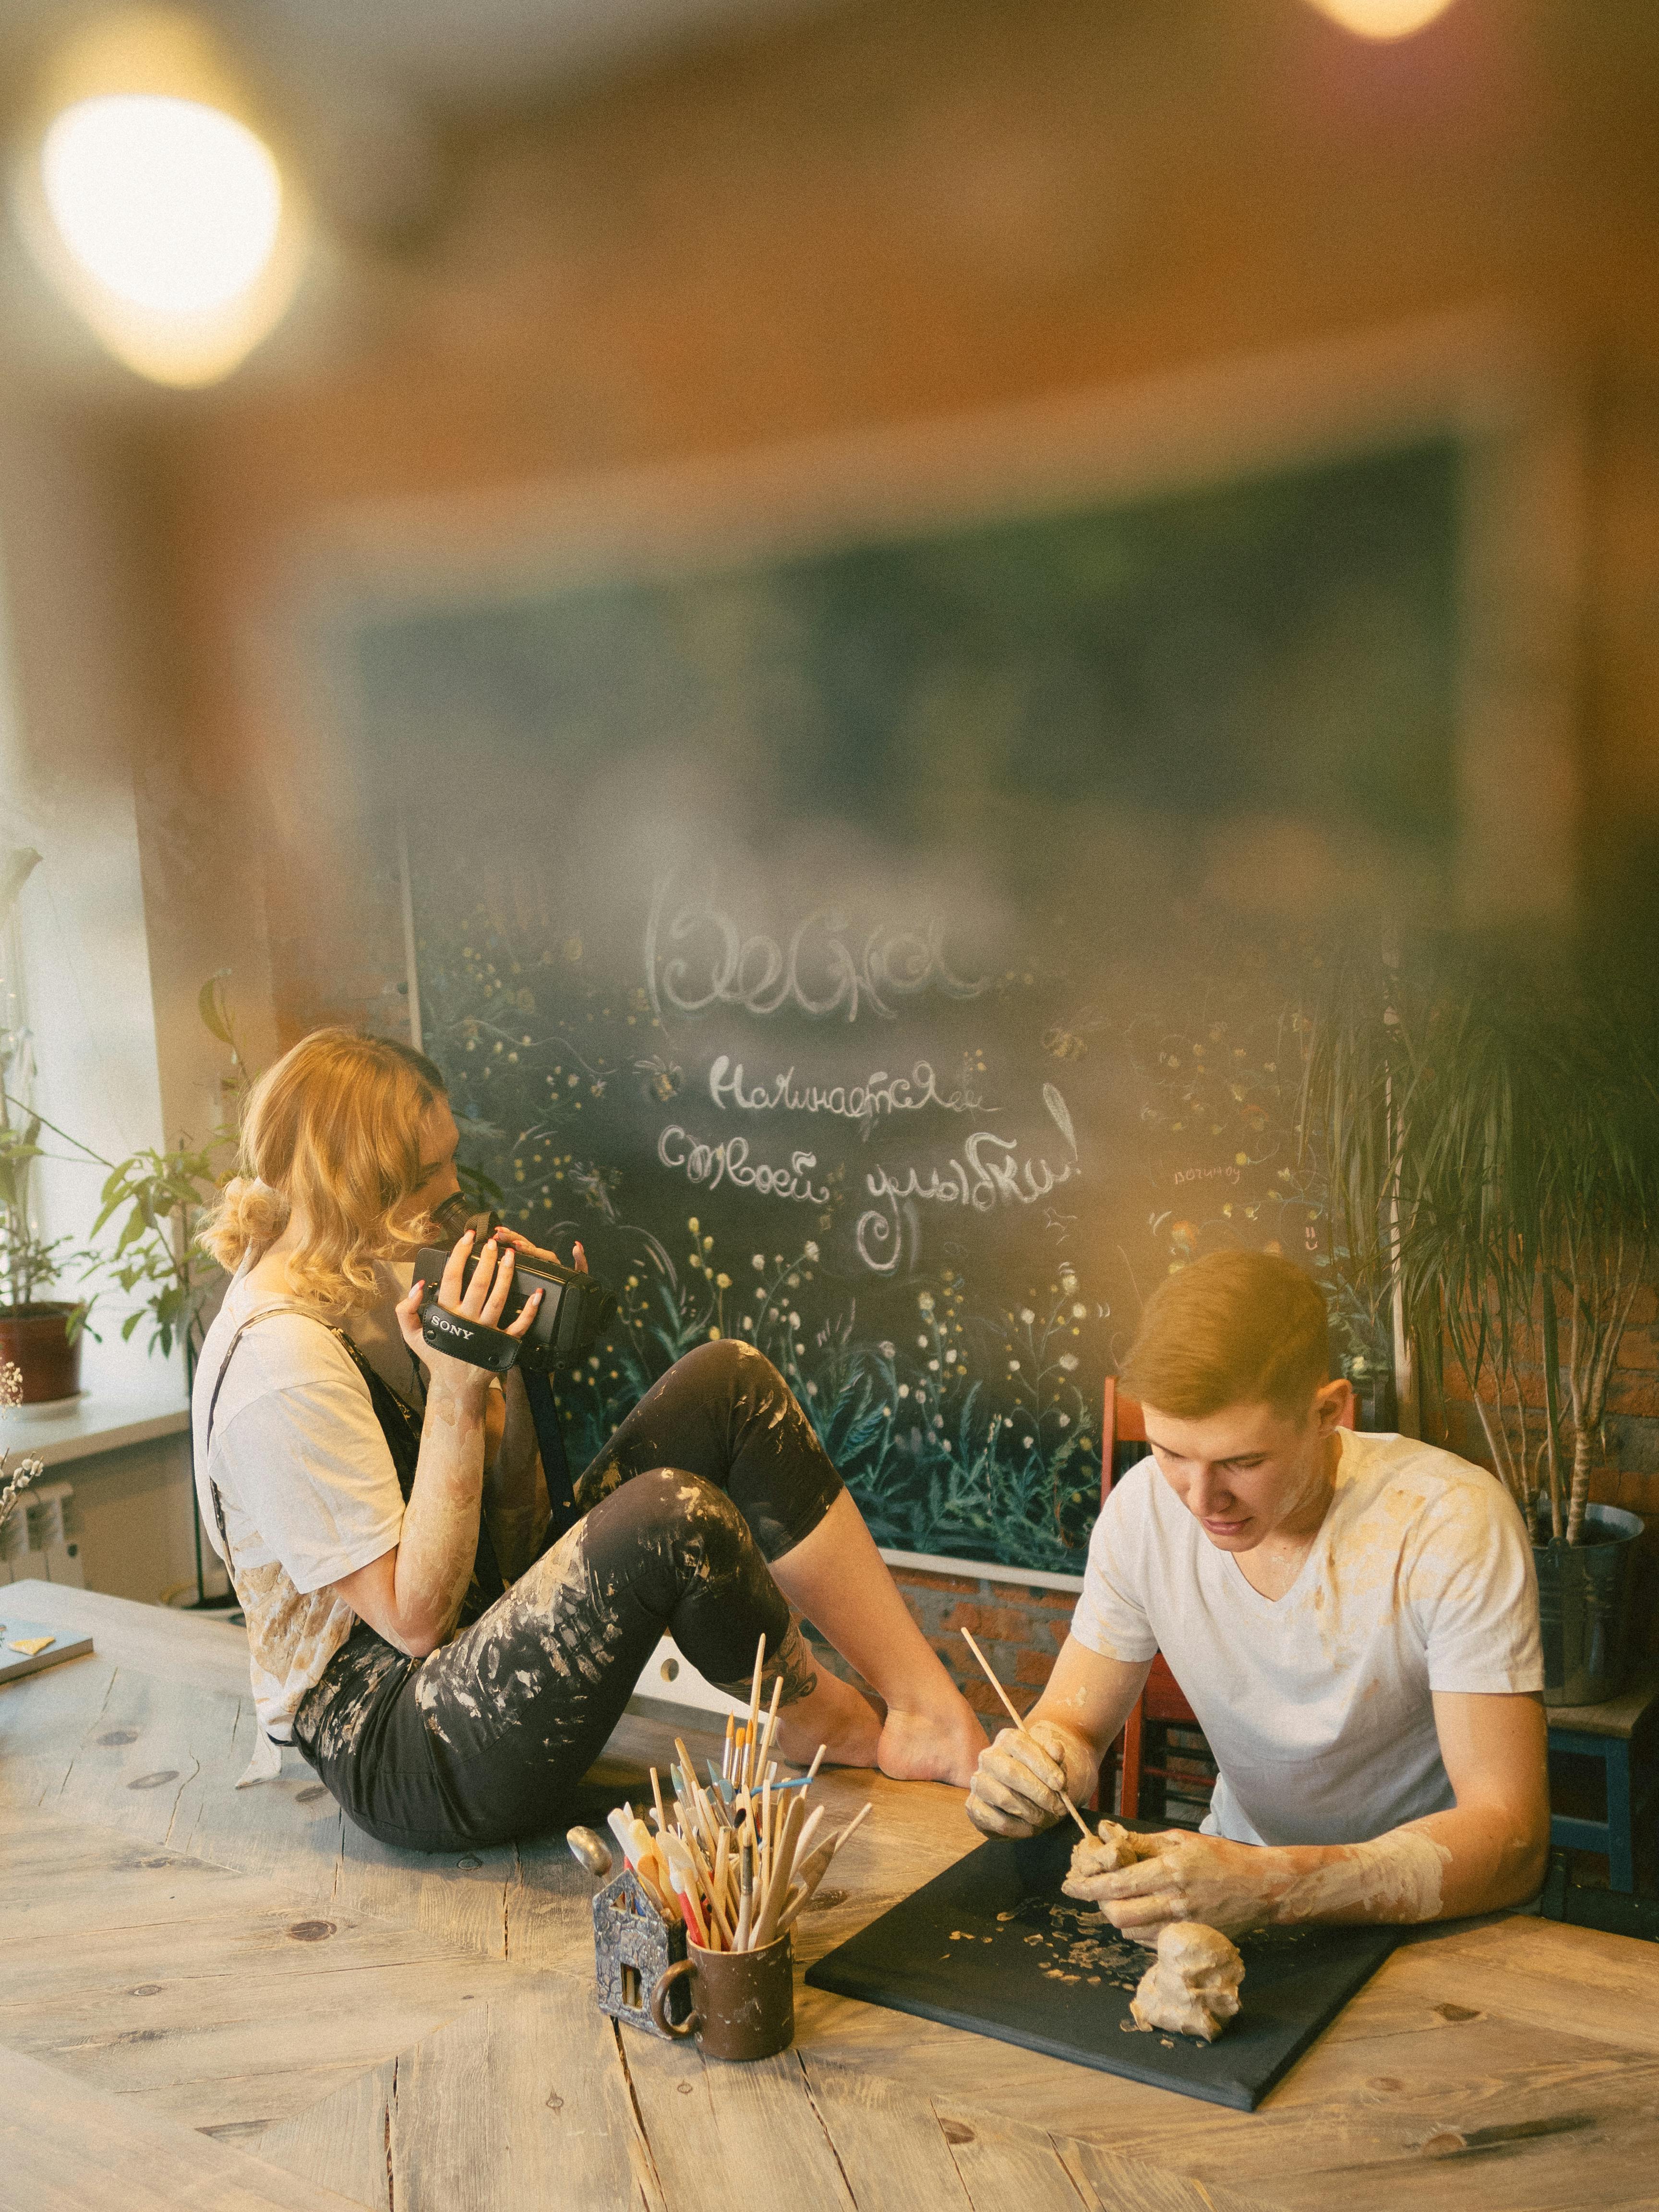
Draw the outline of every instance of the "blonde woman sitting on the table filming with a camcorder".
[[[206,1232],[234,1281],[197,1369],[197,1484],[272,1741],[385,1843],[502,1843],[557,1823],[659,1635],[741,1692],[765,1637],[785,1759],[827,1743],[964,1785],[984,1734],[754,1347],[701,1345],[655,1383],[549,1542],[518,1369],[498,1383],[420,1334],[407,1259],[460,1188],[456,1144],[429,1060],[319,1029],[254,1084]],[[438,1301],[498,1323],[533,1250],[500,1230],[462,1292],[462,1241]],[[885,1719],[814,1666],[799,1615]]]

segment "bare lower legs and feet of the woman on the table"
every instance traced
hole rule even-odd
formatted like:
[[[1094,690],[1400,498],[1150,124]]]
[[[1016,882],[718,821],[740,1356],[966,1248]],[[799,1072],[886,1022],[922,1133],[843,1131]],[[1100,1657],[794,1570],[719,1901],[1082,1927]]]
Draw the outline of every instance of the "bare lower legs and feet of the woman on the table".
[[[816,1688],[779,1712],[785,1756],[812,1759],[827,1743],[838,1765],[874,1763],[898,1781],[964,1790],[984,1730],[911,1619],[847,1491],[772,1562],[772,1579],[887,1703],[883,1723],[849,1683],[818,1672]]]

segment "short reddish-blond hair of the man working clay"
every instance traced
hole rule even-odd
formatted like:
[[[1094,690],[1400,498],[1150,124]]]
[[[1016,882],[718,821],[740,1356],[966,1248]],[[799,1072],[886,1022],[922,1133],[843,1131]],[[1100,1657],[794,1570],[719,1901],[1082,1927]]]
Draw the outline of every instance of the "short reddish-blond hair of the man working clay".
[[[1301,1420],[1329,1380],[1325,1298],[1272,1252],[1206,1252],[1146,1301],[1121,1385],[1177,1420],[1270,1405]]]

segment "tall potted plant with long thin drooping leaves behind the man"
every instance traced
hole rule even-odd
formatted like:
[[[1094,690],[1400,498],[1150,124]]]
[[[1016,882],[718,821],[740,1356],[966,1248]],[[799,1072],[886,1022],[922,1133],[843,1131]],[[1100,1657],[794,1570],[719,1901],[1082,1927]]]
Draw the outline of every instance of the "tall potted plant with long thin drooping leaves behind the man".
[[[1617,1690],[1641,1520],[1588,1500],[1608,1383],[1659,1245],[1659,1013],[1604,964],[1467,940],[1327,962],[1301,1139],[1334,1261],[1387,1316],[1402,1427],[1462,1376],[1533,1533],[1546,1703]]]

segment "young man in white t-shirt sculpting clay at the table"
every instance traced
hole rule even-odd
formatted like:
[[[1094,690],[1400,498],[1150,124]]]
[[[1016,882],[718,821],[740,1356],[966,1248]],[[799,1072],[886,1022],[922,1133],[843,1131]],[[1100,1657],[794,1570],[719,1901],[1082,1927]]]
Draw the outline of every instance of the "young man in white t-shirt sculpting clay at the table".
[[[1037,1705],[969,1816],[1029,1836],[1086,1801],[1164,1652],[1217,1759],[1199,1834],[1075,1869],[1126,1936],[1420,1922],[1517,1905],[1548,1854],[1537,1584],[1489,1473],[1340,1427],[1325,1301],[1217,1252],[1152,1294],[1124,1363],[1150,1458],[1110,1491]]]

